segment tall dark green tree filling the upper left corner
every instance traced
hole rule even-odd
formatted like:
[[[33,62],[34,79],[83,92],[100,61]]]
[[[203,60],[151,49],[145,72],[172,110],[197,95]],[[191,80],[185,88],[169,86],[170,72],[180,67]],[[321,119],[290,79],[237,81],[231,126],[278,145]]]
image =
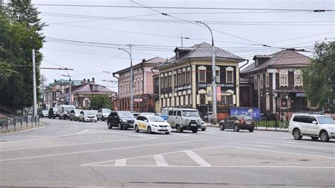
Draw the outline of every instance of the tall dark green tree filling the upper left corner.
[[[0,6],[0,62],[6,79],[0,81],[0,103],[13,109],[33,105],[32,49],[36,50],[36,67],[40,66],[45,23],[40,22],[38,11],[30,0],[13,0]],[[13,72],[13,71],[15,72]],[[15,74],[14,74],[15,73]],[[1,74],[1,73],[0,73]],[[1,74],[5,75],[5,74]],[[37,86],[40,71],[36,70]],[[37,96],[40,95],[37,90]]]

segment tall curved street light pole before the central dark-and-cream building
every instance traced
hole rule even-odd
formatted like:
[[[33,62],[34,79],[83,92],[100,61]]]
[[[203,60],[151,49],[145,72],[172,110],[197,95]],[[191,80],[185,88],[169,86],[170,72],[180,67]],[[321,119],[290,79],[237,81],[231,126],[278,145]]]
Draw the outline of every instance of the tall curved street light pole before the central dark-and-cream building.
[[[214,39],[213,39],[213,33],[211,28],[206,25],[206,23],[203,23],[201,21],[196,21],[196,23],[201,23],[208,28],[208,30],[211,32],[212,37],[212,98],[213,98],[213,124],[217,123],[217,108],[216,108],[216,56],[215,56],[215,46],[214,46]]]

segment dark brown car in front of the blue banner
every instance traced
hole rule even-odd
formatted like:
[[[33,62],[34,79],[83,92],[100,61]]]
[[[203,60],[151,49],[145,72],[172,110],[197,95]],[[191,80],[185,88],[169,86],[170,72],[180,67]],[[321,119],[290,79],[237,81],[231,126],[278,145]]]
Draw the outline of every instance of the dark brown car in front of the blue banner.
[[[254,131],[254,120],[248,115],[230,115],[223,119],[220,123],[220,130],[234,129],[234,131],[240,131],[240,129],[247,129],[249,132]]]

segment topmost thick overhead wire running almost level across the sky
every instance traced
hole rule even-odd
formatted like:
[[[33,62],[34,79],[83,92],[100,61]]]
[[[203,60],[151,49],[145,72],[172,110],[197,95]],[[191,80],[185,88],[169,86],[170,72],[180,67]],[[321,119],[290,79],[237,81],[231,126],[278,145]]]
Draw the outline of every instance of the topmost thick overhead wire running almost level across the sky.
[[[120,5],[84,5],[84,4],[35,4],[36,6],[67,6],[67,7],[100,7],[100,8],[144,8],[143,6]],[[225,7],[185,7],[185,6],[146,6],[157,9],[196,9],[196,10],[231,10],[231,11],[302,11],[302,12],[327,12],[334,9],[299,9],[299,8],[225,8]]]

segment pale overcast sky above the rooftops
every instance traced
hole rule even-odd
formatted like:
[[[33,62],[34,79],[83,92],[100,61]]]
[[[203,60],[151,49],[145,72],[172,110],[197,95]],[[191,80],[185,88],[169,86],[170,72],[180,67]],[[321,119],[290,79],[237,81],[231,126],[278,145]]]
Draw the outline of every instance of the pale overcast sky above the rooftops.
[[[313,1],[147,1],[144,6],[335,9],[332,0]],[[42,67],[66,67],[72,79],[92,78],[112,90],[112,74],[129,67],[129,55],[118,47],[134,45],[134,64],[153,57],[170,58],[173,49],[210,42],[207,28],[182,20],[201,20],[213,29],[216,47],[252,59],[254,54],[271,54],[276,47],[300,47],[311,51],[315,41],[334,40],[334,11],[254,11],[213,9],[114,8],[84,6],[45,6],[42,4],[80,4],[102,6],[139,6],[131,1],[42,1],[33,0],[40,17],[49,26],[44,30],[47,42],[42,49]],[[163,16],[161,13],[170,16]],[[173,16],[173,17],[172,17]],[[179,19],[178,19],[179,18]],[[165,20],[165,21],[162,21]],[[227,35],[228,33],[230,35]],[[235,35],[235,37],[231,36]],[[314,35],[314,36],[311,36]],[[300,37],[300,39],[299,39]],[[298,38],[298,39],[297,39]],[[71,40],[71,41],[69,41]],[[82,43],[95,42],[95,43]],[[273,47],[261,47],[261,45]],[[310,55],[311,53],[305,53]],[[56,65],[57,64],[57,65]],[[47,83],[66,78],[66,71],[42,70]],[[66,78],[67,79],[67,78]]]

